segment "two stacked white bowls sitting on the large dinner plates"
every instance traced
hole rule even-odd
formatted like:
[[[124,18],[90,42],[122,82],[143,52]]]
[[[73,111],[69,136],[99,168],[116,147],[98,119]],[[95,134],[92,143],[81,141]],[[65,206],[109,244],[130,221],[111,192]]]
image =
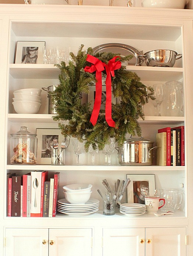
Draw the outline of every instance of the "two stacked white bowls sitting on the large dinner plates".
[[[66,200],[71,204],[85,204],[92,194],[92,184],[77,183],[63,187]]]

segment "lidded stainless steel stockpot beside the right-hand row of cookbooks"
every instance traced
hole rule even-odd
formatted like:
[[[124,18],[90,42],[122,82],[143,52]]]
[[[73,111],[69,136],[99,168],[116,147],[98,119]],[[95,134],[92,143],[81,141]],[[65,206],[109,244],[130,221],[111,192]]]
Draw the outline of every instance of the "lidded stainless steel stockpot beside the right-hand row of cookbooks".
[[[153,164],[153,141],[144,138],[129,138],[119,147],[118,156],[120,165],[145,166]]]

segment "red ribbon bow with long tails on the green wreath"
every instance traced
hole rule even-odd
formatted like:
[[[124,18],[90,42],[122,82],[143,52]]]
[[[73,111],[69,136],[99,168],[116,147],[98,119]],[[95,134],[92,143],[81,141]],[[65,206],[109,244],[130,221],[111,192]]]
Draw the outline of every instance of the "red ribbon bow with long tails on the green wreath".
[[[111,76],[115,76],[114,70],[121,68],[121,62],[115,61],[117,58],[121,59],[119,56],[115,56],[109,60],[108,64],[101,62],[92,55],[87,55],[87,61],[91,62],[92,66],[86,66],[85,72],[93,73],[96,71],[96,97],[94,100],[93,112],[90,118],[90,122],[95,125],[99,117],[100,106],[101,106],[101,97],[102,97],[102,71],[105,69],[107,73],[106,77],[106,107],[105,107],[105,118],[107,124],[110,127],[115,127],[115,122],[112,120],[111,112]]]

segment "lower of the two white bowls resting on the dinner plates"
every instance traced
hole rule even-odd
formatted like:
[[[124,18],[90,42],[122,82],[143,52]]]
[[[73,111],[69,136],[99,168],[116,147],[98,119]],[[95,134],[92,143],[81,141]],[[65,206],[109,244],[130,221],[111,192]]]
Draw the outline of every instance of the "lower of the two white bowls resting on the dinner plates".
[[[85,204],[90,199],[91,194],[92,191],[83,193],[68,193],[64,191],[66,200],[71,204]]]

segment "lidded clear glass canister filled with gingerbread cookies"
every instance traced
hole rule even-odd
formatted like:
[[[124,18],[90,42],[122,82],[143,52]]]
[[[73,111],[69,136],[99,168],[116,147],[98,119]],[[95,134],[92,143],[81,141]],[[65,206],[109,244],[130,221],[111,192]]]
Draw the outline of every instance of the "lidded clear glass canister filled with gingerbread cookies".
[[[35,165],[37,163],[37,135],[22,126],[15,134],[10,134],[10,161],[12,165]]]

